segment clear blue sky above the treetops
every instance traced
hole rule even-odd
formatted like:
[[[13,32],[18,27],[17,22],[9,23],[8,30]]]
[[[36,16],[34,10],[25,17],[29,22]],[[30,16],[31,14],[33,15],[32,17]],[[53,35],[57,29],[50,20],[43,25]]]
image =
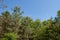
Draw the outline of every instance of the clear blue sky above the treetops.
[[[32,19],[46,20],[51,16],[55,17],[60,9],[60,0],[4,0],[10,10],[18,5],[24,11],[24,16]],[[11,11],[11,10],[10,10]]]

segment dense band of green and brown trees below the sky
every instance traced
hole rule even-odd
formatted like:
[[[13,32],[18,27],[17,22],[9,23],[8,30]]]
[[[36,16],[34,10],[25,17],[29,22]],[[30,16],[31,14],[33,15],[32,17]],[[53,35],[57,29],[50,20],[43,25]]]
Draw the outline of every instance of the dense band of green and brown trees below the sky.
[[[0,15],[0,40],[60,40],[60,11],[55,18],[35,21],[22,16],[19,7]]]

